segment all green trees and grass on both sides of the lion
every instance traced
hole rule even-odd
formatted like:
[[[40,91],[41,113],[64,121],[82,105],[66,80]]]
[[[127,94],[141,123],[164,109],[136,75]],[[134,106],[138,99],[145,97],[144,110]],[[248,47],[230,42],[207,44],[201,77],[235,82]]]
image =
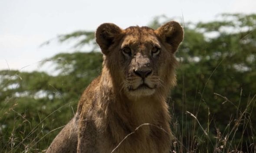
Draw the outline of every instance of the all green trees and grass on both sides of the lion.
[[[165,19],[169,21],[170,19]],[[162,23],[154,19],[150,26]],[[168,102],[177,153],[256,150],[256,14],[223,14],[207,23],[184,23],[177,52],[178,85]],[[94,32],[79,40],[92,52],[62,53],[44,61],[58,75],[0,71],[0,152],[41,152],[74,115],[82,91],[99,75],[102,54]]]

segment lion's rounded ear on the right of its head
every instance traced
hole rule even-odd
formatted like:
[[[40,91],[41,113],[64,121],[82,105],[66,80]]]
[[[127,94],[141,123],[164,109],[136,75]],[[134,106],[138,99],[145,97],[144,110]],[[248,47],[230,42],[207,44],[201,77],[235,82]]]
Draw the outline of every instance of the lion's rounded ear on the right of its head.
[[[173,48],[173,52],[177,50],[181,41],[183,40],[183,28],[178,22],[167,22],[156,31],[157,35],[162,41],[170,44]]]

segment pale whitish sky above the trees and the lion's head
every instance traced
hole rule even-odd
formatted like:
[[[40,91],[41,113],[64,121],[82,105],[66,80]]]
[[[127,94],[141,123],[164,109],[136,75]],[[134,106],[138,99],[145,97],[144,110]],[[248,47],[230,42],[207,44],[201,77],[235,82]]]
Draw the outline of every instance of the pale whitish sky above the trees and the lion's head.
[[[256,0],[0,0],[0,70],[43,70],[40,61],[74,51],[57,41],[40,47],[43,42],[105,22],[147,26],[160,15],[207,22],[220,13],[256,13]]]

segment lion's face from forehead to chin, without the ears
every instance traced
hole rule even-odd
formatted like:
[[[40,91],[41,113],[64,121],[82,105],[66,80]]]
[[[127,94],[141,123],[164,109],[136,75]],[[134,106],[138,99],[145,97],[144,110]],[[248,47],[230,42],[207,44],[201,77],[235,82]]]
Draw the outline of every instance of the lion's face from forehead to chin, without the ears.
[[[121,88],[131,96],[152,95],[164,86],[165,48],[152,29],[131,27],[125,31],[125,37],[115,49],[119,52],[119,76],[123,77]]]

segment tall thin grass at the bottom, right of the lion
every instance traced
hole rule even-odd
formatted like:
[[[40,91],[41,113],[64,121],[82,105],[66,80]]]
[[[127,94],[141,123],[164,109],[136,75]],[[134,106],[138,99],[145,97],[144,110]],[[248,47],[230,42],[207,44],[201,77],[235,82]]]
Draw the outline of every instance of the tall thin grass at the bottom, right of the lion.
[[[214,94],[225,100],[223,104],[231,102],[225,96]],[[175,115],[175,111],[172,111],[171,127],[176,139],[171,151],[173,153],[255,153],[256,131],[251,121],[254,117],[252,115],[255,103],[256,95],[247,101],[244,109],[233,104],[237,111],[230,115],[230,121],[226,125],[215,123],[218,118],[213,117],[209,107],[208,113],[205,114],[208,118],[207,123],[200,122],[197,114],[187,111],[184,111],[184,118],[181,120]],[[173,106],[172,109],[175,110],[175,107]],[[223,131],[220,131],[220,126],[225,127]],[[247,140],[244,135],[249,135]]]

